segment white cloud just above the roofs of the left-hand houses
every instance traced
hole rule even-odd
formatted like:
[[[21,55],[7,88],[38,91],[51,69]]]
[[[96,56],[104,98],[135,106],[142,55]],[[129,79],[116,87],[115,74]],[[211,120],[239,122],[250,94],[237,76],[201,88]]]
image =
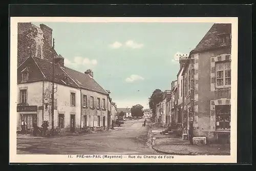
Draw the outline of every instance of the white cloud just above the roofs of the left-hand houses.
[[[97,65],[97,60],[96,59],[89,59],[89,58],[83,58],[80,56],[77,56],[73,59],[73,61],[65,58],[65,66],[72,67],[72,68],[77,68],[79,66],[90,66],[93,67]]]

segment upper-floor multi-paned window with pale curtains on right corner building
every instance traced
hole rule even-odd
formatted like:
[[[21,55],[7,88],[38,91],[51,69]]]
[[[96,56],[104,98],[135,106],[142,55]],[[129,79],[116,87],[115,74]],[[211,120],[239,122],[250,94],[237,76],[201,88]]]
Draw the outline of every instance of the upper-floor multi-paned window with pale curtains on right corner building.
[[[216,62],[216,86],[231,85],[231,62]]]

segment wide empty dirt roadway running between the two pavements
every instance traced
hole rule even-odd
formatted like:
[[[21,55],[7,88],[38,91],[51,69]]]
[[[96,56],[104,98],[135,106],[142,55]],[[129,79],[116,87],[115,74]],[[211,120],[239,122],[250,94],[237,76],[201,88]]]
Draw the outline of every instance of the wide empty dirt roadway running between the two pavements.
[[[17,139],[17,154],[159,154],[146,145],[150,124],[143,119],[125,121],[122,129],[79,136]]]

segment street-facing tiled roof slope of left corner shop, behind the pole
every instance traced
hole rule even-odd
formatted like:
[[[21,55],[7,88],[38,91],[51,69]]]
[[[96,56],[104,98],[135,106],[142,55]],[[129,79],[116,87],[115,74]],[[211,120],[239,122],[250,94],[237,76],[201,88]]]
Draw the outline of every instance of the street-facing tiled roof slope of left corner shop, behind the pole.
[[[34,59],[36,65],[41,70],[42,74],[45,76],[45,79],[52,81],[52,62],[50,62],[47,59],[41,59],[38,57],[34,57],[33,59]],[[54,82],[63,84],[66,86],[78,88],[77,84],[70,79],[69,79],[69,82],[66,83],[64,81],[65,76],[68,77],[68,75],[60,68],[59,65],[54,64]]]

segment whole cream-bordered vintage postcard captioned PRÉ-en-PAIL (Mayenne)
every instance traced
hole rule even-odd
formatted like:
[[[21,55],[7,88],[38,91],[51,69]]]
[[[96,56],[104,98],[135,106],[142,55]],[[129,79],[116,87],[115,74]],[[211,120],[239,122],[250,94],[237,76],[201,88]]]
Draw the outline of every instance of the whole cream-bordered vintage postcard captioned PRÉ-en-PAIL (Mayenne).
[[[11,17],[10,163],[236,163],[237,17]]]

